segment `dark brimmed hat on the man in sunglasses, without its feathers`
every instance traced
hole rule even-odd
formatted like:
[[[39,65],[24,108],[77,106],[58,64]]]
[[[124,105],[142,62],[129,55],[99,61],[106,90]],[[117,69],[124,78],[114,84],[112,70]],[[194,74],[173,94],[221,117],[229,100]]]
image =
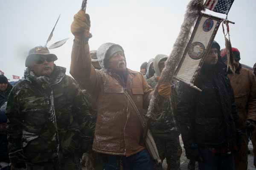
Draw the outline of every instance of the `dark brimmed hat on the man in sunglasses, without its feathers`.
[[[32,48],[29,51],[29,55],[26,57],[25,66],[29,67],[31,64],[35,62],[35,59],[40,56],[52,57],[52,61],[56,61],[58,59],[58,57],[55,54],[50,54],[50,51],[47,47],[38,46]]]

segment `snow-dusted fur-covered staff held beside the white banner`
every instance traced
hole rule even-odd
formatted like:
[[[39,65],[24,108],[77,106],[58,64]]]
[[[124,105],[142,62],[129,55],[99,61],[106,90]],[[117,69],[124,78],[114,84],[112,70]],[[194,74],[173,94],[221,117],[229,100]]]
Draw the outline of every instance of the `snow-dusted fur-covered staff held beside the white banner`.
[[[151,114],[154,113],[158,108],[158,103],[161,98],[161,96],[157,93],[159,85],[162,82],[170,82],[173,84],[172,79],[175,73],[175,68],[182,57],[187,43],[189,42],[192,27],[195,25],[195,21],[197,20],[202,10],[204,10],[204,0],[191,0],[189,2],[183,24],[180,28],[180,33],[176,39],[175,44],[173,45],[172,53],[166,61],[166,67],[163,69],[159,82],[157,83],[151,97],[148,113],[146,115],[147,117],[151,117]]]

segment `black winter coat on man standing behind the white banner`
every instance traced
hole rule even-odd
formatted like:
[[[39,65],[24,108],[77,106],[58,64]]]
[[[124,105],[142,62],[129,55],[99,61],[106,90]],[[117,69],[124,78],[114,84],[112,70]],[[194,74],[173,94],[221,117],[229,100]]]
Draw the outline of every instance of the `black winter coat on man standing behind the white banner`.
[[[236,144],[238,114],[233,89],[224,63],[203,66],[195,85],[199,92],[181,83],[177,105],[178,122],[184,147],[198,144],[233,149]]]

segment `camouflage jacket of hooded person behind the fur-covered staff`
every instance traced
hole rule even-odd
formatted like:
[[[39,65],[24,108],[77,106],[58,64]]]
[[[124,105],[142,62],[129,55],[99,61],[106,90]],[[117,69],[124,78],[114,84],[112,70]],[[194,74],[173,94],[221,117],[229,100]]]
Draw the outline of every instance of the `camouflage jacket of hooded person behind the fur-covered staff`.
[[[154,88],[157,85],[157,76],[147,79],[148,85]],[[172,94],[175,95],[175,94]],[[171,99],[164,100],[160,111],[151,118],[150,129],[154,137],[162,139],[173,139],[174,136],[180,134],[179,127],[177,125],[177,115],[176,115],[176,104],[173,102],[173,107],[170,105]]]

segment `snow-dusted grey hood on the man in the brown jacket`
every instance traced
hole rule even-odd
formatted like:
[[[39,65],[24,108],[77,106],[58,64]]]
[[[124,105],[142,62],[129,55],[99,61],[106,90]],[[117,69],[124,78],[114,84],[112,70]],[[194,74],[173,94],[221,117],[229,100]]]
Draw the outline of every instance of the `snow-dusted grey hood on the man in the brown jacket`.
[[[106,42],[102,44],[97,50],[97,58],[99,60],[99,65],[102,68],[108,68],[109,59],[117,52],[124,53],[121,45],[114,44],[112,42]]]

